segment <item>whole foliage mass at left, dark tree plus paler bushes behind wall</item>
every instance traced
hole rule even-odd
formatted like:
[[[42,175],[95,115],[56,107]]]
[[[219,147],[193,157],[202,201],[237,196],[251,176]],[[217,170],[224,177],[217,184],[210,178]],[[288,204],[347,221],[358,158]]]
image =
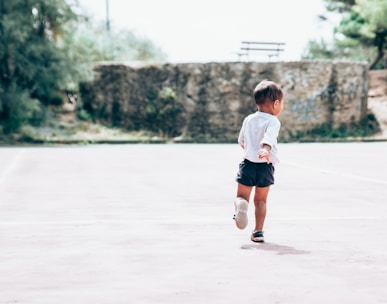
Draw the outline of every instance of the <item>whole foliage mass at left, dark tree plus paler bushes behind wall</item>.
[[[12,133],[39,123],[48,105],[92,77],[95,61],[162,61],[151,41],[129,31],[107,35],[77,0],[0,1],[0,124]],[[1,129],[0,129],[1,133]]]

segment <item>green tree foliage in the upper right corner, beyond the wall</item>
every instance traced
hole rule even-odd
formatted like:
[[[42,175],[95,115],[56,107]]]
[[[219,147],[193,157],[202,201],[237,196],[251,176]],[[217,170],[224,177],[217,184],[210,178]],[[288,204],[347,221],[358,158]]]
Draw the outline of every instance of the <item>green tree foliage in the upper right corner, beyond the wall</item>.
[[[370,69],[377,67],[387,46],[387,1],[325,2],[328,12],[341,15],[341,21],[334,29],[333,42],[310,41],[303,57],[364,60],[370,63]]]

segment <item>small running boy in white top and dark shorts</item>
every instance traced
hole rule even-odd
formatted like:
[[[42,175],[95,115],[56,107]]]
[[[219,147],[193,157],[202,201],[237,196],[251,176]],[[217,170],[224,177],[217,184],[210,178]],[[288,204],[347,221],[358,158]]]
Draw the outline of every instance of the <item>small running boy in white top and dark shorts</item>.
[[[254,89],[254,99],[258,111],[244,119],[238,138],[243,160],[236,177],[234,220],[239,229],[246,228],[250,194],[255,188],[255,229],[251,240],[263,242],[266,200],[270,185],[274,184],[274,166],[279,163],[277,137],[281,123],[277,117],[283,109],[284,93],[275,82],[263,80]]]

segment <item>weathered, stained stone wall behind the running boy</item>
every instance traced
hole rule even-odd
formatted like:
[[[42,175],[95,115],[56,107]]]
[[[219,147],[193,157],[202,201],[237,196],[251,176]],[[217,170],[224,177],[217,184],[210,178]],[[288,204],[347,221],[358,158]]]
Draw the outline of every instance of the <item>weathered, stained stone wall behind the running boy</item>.
[[[85,109],[99,122],[168,136],[235,141],[263,79],[286,94],[281,139],[358,123],[367,114],[368,66],[343,62],[235,62],[133,68],[99,65],[80,85]]]

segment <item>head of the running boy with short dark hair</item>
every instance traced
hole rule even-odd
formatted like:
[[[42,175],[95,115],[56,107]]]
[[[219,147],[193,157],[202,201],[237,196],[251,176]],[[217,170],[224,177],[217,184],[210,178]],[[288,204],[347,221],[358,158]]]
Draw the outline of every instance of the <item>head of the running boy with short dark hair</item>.
[[[254,89],[254,99],[260,111],[278,116],[283,108],[284,93],[275,82],[263,80]]]

